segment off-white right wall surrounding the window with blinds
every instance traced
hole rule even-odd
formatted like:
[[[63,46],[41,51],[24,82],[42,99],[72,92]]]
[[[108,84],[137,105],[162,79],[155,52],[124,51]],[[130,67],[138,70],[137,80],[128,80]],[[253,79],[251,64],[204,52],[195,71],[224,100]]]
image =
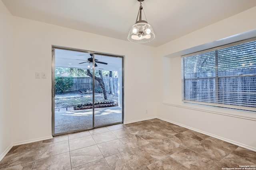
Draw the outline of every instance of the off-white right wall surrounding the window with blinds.
[[[224,141],[256,151],[256,113],[216,107],[183,104],[181,101],[180,55],[221,45],[229,39],[256,37],[256,7],[199,29],[156,49],[162,75],[162,93],[158,96],[158,117],[166,121],[200,131]],[[232,36],[236,35],[237,36]],[[232,36],[232,37],[230,37]],[[230,37],[224,39],[226,37]],[[222,39],[221,41],[218,41]],[[161,89],[161,88],[160,88]],[[232,114],[228,116],[225,114]],[[240,115],[246,115],[246,118]]]

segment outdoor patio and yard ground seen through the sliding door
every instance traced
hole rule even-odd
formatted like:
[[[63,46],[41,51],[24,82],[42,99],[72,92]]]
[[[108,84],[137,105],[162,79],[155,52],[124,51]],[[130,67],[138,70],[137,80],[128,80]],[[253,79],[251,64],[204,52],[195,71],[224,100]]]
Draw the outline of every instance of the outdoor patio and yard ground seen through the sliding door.
[[[95,102],[118,102],[118,96],[107,94],[104,100],[102,93],[95,93]],[[79,91],[56,94],[54,111],[54,133],[65,133],[92,127],[92,109],[74,110],[78,104],[92,103],[92,93]],[[122,107],[104,107],[94,109],[94,126],[122,122]]]

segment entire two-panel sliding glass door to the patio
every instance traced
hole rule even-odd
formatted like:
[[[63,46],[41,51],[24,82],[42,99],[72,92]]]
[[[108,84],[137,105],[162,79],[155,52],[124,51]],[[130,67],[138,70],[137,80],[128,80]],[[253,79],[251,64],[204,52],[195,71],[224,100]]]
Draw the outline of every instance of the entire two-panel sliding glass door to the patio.
[[[52,133],[123,121],[123,58],[52,48]]]

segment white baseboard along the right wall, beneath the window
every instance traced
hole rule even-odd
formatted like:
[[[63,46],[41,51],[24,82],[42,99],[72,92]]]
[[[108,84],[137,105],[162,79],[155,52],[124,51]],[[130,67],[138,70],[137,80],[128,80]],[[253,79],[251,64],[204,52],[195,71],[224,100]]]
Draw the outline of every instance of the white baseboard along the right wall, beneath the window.
[[[186,126],[186,125],[182,125],[182,124],[177,123],[177,122],[169,121],[169,120],[164,119],[164,118],[162,118],[162,117],[156,117],[156,118],[161,119],[161,120],[163,120],[163,121],[167,121],[167,122],[169,122],[169,123],[173,123],[173,124],[175,124],[175,125],[179,125],[179,126],[181,126],[181,127],[185,127],[185,128],[190,129],[190,130],[192,130],[192,131],[196,131],[196,132],[199,132],[199,133],[203,133],[204,135],[208,135],[208,136],[210,136],[210,137],[214,137],[214,138],[220,139],[220,140],[222,140],[222,141],[225,141],[225,142],[228,142],[228,143],[237,145],[237,146],[239,146],[239,147],[242,147],[242,148],[245,148],[245,149],[249,149],[249,150],[252,150],[252,151],[256,152],[256,148],[254,148],[254,147],[250,147],[250,146],[248,146],[248,145],[244,145],[244,144],[238,143],[238,142],[236,142],[236,141],[232,141],[232,140],[229,140],[229,139],[226,139],[226,138],[223,138],[223,137],[219,137],[219,136],[214,135],[214,134],[211,134],[211,133],[207,133],[207,132],[204,132],[204,131],[200,131],[200,130],[195,129],[195,128],[193,128],[193,127],[189,127],[189,126]]]

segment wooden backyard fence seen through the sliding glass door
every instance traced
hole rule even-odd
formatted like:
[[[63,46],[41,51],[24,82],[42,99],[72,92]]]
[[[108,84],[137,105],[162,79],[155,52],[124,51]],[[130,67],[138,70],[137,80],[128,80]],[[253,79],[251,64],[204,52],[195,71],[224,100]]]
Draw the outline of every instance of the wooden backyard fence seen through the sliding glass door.
[[[118,96],[118,78],[103,77],[106,92]],[[94,88],[100,88],[100,84],[95,80]],[[80,91],[85,89],[92,90],[91,77],[73,77],[73,85],[66,90],[66,92]]]

